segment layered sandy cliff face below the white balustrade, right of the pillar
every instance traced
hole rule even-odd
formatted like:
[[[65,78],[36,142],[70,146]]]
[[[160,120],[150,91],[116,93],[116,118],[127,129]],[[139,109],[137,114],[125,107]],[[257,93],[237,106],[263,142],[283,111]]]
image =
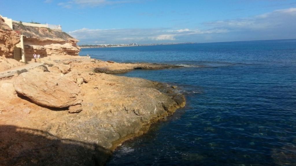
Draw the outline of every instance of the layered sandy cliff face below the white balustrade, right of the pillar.
[[[25,26],[15,22],[13,28],[24,35],[25,54],[29,61],[34,52],[45,57],[50,55],[77,56],[80,51],[77,46],[78,40],[65,32],[43,27]]]

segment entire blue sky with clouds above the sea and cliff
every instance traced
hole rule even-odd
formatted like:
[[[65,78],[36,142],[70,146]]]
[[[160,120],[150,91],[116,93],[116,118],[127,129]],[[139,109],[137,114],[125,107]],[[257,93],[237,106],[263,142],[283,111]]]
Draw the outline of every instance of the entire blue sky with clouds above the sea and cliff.
[[[79,45],[296,38],[296,0],[0,0],[0,14],[61,25]]]

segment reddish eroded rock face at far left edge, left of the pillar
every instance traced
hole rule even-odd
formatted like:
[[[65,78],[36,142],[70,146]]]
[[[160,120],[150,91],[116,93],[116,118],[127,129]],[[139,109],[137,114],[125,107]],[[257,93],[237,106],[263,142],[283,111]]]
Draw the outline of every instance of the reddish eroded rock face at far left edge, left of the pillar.
[[[13,49],[20,42],[20,36],[0,17],[0,56],[13,57]]]

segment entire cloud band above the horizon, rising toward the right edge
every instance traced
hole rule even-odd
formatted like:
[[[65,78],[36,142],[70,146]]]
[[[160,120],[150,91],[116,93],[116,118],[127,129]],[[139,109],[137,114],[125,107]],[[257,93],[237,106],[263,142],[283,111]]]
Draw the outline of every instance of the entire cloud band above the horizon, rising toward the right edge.
[[[275,10],[249,18],[204,23],[201,29],[87,29],[69,32],[81,44],[169,43],[269,40],[296,38],[296,8]]]

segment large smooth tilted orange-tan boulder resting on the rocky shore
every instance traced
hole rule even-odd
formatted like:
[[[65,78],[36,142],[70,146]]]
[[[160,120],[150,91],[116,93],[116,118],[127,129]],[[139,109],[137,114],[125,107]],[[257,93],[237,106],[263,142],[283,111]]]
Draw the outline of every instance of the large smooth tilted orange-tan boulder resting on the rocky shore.
[[[32,102],[51,108],[65,108],[81,103],[78,86],[61,76],[49,72],[26,72],[13,83],[15,91]]]

